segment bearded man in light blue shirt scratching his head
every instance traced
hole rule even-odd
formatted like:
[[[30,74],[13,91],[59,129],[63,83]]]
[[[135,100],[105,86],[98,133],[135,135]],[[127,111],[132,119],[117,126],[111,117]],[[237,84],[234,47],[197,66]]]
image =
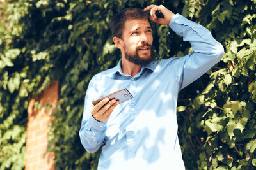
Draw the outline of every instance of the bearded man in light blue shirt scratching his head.
[[[164,18],[156,17],[157,10]],[[115,15],[111,29],[122,59],[93,76],[86,92],[79,135],[88,152],[102,146],[98,169],[185,169],[177,136],[178,92],[223,56],[221,44],[201,25],[162,5],[144,11],[127,8]],[[193,52],[154,61],[149,19],[168,24],[191,43]],[[131,100],[119,104],[106,98],[92,105],[93,100],[124,88],[131,92]]]

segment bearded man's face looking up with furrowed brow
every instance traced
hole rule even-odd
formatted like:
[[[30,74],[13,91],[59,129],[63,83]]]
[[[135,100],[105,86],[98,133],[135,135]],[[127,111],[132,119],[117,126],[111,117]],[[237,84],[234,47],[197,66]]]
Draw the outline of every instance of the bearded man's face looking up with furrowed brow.
[[[152,29],[147,19],[127,20],[122,34],[125,58],[137,65],[154,60]]]

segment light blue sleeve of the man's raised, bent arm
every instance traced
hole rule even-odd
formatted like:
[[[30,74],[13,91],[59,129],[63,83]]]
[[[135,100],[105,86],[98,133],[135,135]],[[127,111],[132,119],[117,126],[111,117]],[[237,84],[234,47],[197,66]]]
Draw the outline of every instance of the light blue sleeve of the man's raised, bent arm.
[[[223,57],[223,46],[216,41],[209,30],[200,24],[192,22],[182,15],[176,14],[169,23],[170,28],[189,41],[193,52],[180,60],[182,67],[179,79],[179,90],[183,89],[202,74],[206,73]]]

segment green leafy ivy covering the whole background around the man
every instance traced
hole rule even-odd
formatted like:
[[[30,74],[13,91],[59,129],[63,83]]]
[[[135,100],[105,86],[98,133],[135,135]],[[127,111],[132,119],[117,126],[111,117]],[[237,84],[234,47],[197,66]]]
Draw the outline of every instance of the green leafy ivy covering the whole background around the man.
[[[28,100],[52,81],[60,100],[49,151],[56,169],[96,169],[99,153],[79,141],[90,78],[116,65],[109,21],[128,6],[163,4],[209,29],[223,60],[179,94],[179,140],[187,169],[256,166],[255,1],[6,1],[0,4],[0,169],[22,169]],[[152,24],[157,60],[191,52],[166,25]]]

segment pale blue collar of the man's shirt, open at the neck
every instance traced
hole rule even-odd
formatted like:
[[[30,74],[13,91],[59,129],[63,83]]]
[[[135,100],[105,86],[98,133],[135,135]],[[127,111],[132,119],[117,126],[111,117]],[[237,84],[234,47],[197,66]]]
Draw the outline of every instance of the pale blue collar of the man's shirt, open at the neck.
[[[118,64],[115,67],[113,67],[112,78],[114,78],[117,75],[127,76],[124,73],[122,73],[121,62],[122,62],[122,59],[120,59]],[[153,72],[155,70],[155,68],[156,68],[156,61],[150,62],[149,64],[142,66],[141,71],[138,74],[141,74],[145,69],[148,69]]]

